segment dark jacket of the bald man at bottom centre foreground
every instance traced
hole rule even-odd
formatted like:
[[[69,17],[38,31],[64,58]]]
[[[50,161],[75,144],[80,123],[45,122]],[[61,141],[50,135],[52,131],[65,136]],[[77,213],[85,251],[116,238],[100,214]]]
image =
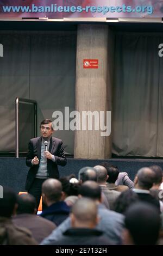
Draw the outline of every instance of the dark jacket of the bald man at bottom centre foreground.
[[[103,232],[91,228],[70,228],[62,238],[52,245],[110,245],[108,237]]]

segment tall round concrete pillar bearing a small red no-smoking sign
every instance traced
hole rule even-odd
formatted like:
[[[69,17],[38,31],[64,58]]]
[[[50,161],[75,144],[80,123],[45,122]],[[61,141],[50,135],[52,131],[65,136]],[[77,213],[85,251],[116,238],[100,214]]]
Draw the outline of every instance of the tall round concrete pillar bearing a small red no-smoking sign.
[[[98,111],[98,113],[99,111],[104,111],[105,113],[106,111],[111,111],[112,71],[108,59],[110,56],[110,59],[112,58],[113,60],[111,56],[114,48],[112,47],[112,38],[108,25],[78,26],[76,111],[80,113],[81,129],[83,111]],[[83,59],[98,59],[98,69],[84,69]],[[92,131],[76,131],[74,158],[110,158],[111,136],[102,137],[101,132],[100,127],[97,131],[94,130],[94,126]]]

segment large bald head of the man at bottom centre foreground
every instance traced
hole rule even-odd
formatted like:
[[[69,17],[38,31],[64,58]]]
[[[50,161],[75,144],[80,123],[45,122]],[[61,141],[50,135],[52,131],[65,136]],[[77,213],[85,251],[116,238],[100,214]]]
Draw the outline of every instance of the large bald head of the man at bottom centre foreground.
[[[97,205],[89,198],[80,198],[72,206],[70,216],[74,228],[95,228],[98,223]]]

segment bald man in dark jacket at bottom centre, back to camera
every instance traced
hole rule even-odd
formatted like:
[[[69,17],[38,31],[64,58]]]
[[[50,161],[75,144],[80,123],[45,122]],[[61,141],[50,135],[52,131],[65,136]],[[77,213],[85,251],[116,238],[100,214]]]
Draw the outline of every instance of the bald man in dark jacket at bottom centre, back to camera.
[[[110,245],[108,237],[101,230],[95,229],[99,222],[97,212],[95,201],[88,198],[78,199],[72,206],[71,228],[51,245]]]

